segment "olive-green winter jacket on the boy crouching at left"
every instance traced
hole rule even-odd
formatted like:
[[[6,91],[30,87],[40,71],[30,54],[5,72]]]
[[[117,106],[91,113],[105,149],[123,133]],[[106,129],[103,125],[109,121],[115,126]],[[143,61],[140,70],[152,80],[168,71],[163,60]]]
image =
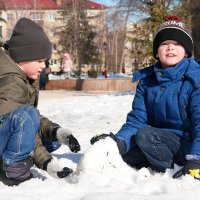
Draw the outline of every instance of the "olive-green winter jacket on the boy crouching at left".
[[[0,48],[0,116],[9,114],[22,105],[37,107],[38,96],[39,80],[29,80],[6,51]],[[43,168],[43,163],[52,158],[42,145],[41,135],[49,140],[56,140],[52,133],[58,126],[41,116],[34,150],[35,164],[39,168]]]

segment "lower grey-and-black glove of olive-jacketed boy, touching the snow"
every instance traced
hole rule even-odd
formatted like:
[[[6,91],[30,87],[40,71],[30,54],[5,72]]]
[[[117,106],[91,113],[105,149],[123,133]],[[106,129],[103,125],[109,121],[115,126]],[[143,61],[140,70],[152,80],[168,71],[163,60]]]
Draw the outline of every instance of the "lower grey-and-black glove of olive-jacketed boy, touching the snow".
[[[73,170],[68,167],[60,169],[57,159],[55,158],[50,158],[49,160],[45,161],[43,169],[54,178],[65,178],[73,172]]]

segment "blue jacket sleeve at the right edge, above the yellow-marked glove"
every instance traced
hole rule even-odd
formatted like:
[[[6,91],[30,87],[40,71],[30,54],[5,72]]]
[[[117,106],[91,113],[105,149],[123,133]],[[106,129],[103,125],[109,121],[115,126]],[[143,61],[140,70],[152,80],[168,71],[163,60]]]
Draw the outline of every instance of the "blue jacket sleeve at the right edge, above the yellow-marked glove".
[[[200,88],[192,92],[189,106],[193,126],[190,154],[200,155]]]

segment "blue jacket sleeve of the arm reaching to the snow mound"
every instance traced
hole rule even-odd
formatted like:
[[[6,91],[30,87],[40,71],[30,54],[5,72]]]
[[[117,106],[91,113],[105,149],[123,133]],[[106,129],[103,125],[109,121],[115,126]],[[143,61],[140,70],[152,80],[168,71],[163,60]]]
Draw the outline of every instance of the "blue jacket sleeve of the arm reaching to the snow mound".
[[[121,127],[116,137],[126,143],[126,152],[134,145],[134,136],[139,128],[147,126],[147,110],[145,104],[145,87],[140,81],[128,113],[126,123]]]

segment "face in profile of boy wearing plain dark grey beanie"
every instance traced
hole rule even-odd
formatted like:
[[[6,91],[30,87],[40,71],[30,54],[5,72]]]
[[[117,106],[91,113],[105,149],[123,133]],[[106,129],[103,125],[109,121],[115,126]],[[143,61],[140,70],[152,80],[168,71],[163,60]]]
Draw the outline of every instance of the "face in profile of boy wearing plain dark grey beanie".
[[[42,70],[46,67],[45,60],[46,59],[25,61],[18,63],[18,65],[30,79],[36,80],[40,76]]]

